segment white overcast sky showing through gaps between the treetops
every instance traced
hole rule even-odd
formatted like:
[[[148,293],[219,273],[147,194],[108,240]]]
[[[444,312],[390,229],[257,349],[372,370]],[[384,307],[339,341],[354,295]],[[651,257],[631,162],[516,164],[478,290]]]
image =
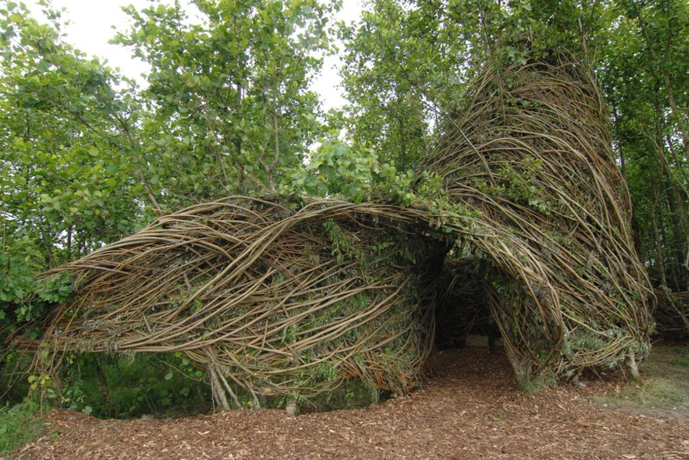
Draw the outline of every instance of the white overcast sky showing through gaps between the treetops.
[[[32,10],[36,0],[25,1]],[[184,5],[188,1],[182,0]],[[141,74],[147,72],[147,65],[138,59],[132,58],[130,50],[119,45],[107,43],[115,34],[114,25],[118,30],[125,30],[129,24],[128,17],[122,12],[121,7],[134,5],[141,9],[151,4],[148,0],[52,0],[54,8],[67,8],[65,19],[71,24],[65,30],[67,41],[90,55],[106,58],[111,67],[119,67],[122,74],[130,78],[136,78],[143,83]],[[338,13],[337,20],[355,21],[361,14],[361,0],[344,0],[343,8]],[[327,56],[323,65],[322,74],[313,82],[313,90],[320,94],[323,107],[327,110],[332,107],[340,107],[345,103],[342,91],[338,86],[340,77],[338,56]]]

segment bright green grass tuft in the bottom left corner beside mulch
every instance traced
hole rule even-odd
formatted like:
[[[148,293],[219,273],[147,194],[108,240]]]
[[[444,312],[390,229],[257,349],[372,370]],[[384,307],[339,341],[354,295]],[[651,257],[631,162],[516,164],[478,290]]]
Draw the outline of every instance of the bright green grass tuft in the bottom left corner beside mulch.
[[[34,402],[0,408],[0,457],[6,457],[12,450],[43,434],[38,408]]]

